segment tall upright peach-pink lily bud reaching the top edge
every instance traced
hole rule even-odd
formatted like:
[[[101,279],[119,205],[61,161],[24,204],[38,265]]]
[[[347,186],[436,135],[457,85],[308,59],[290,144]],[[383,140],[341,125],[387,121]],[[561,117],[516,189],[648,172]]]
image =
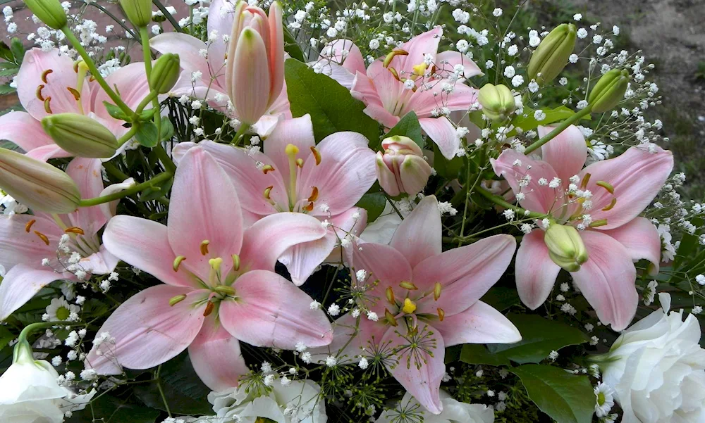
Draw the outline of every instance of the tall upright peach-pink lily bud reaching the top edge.
[[[228,44],[226,89],[238,119],[253,125],[281,94],[284,84],[282,11],[274,1],[267,16],[240,1]]]

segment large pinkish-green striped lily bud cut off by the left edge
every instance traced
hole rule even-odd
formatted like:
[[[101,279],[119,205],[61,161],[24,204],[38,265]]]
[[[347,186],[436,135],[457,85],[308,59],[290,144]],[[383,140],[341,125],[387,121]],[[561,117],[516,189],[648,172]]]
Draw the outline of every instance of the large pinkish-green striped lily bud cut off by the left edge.
[[[0,188],[35,211],[71,213],[81,193],[73,179],[54,166],[0,149]]]

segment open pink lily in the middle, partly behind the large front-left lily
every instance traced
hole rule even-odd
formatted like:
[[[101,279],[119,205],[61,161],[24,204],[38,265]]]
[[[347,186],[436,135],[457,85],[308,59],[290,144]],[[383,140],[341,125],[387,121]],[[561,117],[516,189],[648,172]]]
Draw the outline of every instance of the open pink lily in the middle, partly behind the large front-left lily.
[[[175,158],[195,145],[212,153],[230,177],[245,222],[283,212],[305,213],[327,222],[326,236],[292,246],[279,258],[299,286],[336,244],[364,229],[367,212],[355,203],[374,184],[376,171],[374,151],[361,134],[337,132],[316,145],[311,117],[304,115],[280,122],[264,141],[264,153],[202,141],[178,144]]]

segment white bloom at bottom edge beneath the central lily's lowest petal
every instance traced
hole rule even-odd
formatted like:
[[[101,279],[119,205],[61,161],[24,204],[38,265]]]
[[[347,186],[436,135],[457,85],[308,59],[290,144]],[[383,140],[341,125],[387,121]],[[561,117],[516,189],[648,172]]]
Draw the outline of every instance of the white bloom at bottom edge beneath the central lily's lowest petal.
[[[494,409],[491,406],[461,403],[450,398],[446,391],[441,391],[441,403],[443,412],[433,415],[407,392],[397,408],[384,410],[375,423],[397,422],[400,412],[405,412],[407,416],[412,413],[419,422],[424,423],[494,423]]]

